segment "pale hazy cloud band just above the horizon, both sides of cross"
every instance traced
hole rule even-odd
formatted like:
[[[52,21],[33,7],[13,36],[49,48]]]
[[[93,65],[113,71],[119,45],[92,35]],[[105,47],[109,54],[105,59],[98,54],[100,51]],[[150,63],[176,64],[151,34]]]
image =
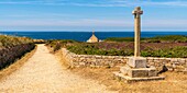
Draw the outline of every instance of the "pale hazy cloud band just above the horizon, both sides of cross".
[[[186,30],[187,20],[143,20],[143,30]],[[79,19],[79,20],[57,20],[57,19],[32,19],[32,20],[2,20],[0,23],[1,28],[12,30],[131,30],[133,31],[133,20],[120,20],[120,19]]]

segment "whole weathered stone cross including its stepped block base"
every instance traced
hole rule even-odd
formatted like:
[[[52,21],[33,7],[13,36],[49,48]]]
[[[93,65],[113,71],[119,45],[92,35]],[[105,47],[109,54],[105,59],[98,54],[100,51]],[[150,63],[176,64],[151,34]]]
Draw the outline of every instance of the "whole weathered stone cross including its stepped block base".
[[[164,80],[158,77],[156,68],[146,66],[146,58],[140,57],[140,38],[141,38],[141,14],[143,11],[140,7],[132,12],[134,14],[134,57],[130,57],[127,65],[120,68],[120,72],[113,72],[120,80],[127,82]]]

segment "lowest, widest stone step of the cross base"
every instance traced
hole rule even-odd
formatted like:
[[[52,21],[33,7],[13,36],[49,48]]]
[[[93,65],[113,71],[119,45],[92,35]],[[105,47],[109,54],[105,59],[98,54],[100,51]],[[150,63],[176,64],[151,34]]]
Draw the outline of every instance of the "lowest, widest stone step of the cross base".
[[[150,77],[150,78],[131,78],[129,75],[124,75],[123,73],[120,72],[113,72],[114,78],[131,83],[131,82],[138,82],[138,81],[155,81],[155,80],[164,80],[164,77]]]

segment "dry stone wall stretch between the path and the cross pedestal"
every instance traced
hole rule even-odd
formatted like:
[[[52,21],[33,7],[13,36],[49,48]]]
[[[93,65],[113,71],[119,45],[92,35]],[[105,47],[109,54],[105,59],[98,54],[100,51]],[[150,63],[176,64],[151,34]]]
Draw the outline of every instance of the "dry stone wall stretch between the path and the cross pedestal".
[[[128,58],[123,56],[97,56],[97,55],[76,55],[62,49],[63,59],[70,67],[113,67],[117,65],[125,65]]]

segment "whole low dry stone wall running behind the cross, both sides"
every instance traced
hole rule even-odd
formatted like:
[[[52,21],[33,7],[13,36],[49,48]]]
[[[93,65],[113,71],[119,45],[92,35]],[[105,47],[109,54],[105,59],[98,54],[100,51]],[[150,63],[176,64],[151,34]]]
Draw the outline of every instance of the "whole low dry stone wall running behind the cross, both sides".
[[[62,48],[62,57],[70,67],[114,67],[124,66],[130,57],[124,56],[98,56],[76,55]],[[187,58],[154,58],[147,57],[147,66],[154,66],[161,70],[163,66],[170,71],[184,71],[187,68]]]

